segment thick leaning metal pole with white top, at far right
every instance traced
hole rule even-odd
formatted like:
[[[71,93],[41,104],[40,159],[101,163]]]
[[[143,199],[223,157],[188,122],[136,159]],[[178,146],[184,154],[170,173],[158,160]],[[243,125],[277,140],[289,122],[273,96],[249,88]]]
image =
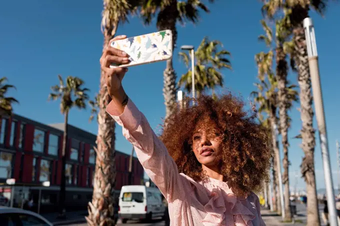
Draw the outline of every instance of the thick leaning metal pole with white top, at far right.
[[[319,77],[316,41],[315,41],[314,27],[313,27],[311,18],[303,19],[303,27],[305,28],[310,80],[311,80],[311,87],[312,87],[314,106],[315,106],[315,116],[316,116],[318,131],[319,131],[323,173],[324,173],[324,181],[326,185],[327,204],[328,204],[328,212],[329,212],[328,218],[329,218],[329,223],[331,226],[337,226],[337,212],[335,209],[333,180],[332,180],[330,162],[329,162],[327,132],[326,132],[326,123],[325,123],[323,101],[322,101],[322,90],[321,90],[320,77]]]

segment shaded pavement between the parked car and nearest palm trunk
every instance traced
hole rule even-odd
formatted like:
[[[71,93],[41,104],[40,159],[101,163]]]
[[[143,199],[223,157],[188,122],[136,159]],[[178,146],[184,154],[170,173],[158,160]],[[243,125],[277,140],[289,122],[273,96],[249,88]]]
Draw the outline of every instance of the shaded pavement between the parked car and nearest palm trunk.
[[[85,216],[87,216],[87,214],[88,214],[87,210],[66,212],[64,219],[57,218],[58,216],[57,212],[44,213],[41,215],[45,217],[48,221],[53,223],[54,225],[62,225],[62,224],[69,224],[69,223],[86,222]]]

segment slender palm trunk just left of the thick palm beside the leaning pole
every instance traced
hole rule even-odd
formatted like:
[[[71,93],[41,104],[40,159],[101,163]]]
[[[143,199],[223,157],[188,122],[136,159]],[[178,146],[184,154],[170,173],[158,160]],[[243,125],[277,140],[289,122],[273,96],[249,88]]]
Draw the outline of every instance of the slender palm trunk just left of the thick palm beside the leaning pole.
[[[287,61],[282,46],[276,48],[276,76],[278,86],[278,113],[283,146],[284,220],[291,221],[289,200],[289,161],[288,161],[288,115],[287,115]]]

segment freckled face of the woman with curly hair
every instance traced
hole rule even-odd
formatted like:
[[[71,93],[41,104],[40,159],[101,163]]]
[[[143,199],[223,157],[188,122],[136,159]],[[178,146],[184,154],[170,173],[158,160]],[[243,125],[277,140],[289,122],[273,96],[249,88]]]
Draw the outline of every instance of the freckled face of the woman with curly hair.
[[[199,163],[216,166],[220,159],[221,137],[215,131],[198,129],[192,135],[192,150]]]

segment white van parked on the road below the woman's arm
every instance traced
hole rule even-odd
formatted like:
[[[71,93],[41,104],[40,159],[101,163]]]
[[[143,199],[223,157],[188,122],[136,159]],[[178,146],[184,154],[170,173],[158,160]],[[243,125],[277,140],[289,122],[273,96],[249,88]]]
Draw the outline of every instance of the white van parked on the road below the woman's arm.
[[[165,206],[162,194],[156,187],[145,185],[122,186],[119,194],[118,214],[122,223],[128,219],[164,217]]]

